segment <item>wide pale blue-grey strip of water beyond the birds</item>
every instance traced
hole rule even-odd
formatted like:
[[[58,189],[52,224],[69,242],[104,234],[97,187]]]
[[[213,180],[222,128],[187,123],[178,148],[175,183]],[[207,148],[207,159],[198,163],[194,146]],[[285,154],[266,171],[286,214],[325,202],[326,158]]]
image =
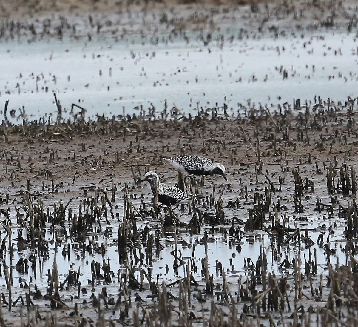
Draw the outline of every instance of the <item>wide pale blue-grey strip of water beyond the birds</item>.
[[[131,36],[0,43],[0,94],[4,102],[10,100],[8,117],[11,109],[16,117],[24,106],[29,120],[47,120],[57,114],[53,92],[67,112],[75,103],[91,117],[139,114],[134,108],[141,105],[147,113],[151,104],[159,114],[165,100],[168,110],[175,105],[185,114],[225,103],[229,114],[232,110],[236,115],[238,103],[248,101],[272,104],[274,110],[293,99],[304,104],[315,95],[335,101],[356,95],[358,50],[353,33],[240,36],[228,28],[223,41],[221,34],[212,33],[207,46],[200,33],[187,36],[188,42],[180,35],[169,40],[161,34],[158,42]]]

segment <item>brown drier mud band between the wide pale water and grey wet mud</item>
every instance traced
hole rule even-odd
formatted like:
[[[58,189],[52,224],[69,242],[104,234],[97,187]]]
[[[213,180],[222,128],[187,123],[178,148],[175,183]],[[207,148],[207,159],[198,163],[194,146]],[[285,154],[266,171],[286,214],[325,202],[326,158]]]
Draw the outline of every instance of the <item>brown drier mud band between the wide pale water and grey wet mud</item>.
[[[286,165],[286,160],[289,170],[301,161],[300,171],[311,172],[312,169],[315,171],[315,161],[320,168],[323,168],[323,162],[327,163],[333,157],[343,160],[348,155],[354,162],[358,151],[355,134],[352,142],[338,142],[347,133],[347,119],[350,118],[347,113],[338,113],[337,122],[325,124],[324,128],[313,127],[307,131],[301,126],[291,127],[291,124],[299,123],[297,120],[301,119],[302,113],[290,117],[289,121],[279,114],[273,114],[274,120],[267,114],[263,118],[253,116],[252,120],[244,115],[237,119],[220,116],[210,119],[211,113],[197,118],[178,115],[179,120],[169,121],[139,119],[121,122],[100,118],[98,122],[78,125],[3,127],[3,139],[6,135],[3,148],[7,156],[2,158],[1,186],[11,191],[13,187],[25,187],[23,181],[31,179],[31,189],[40,190],[46,170],[51,172],[55,184],[71,182],[72,185],[73,176],[76,176],[77,186],[84,186],[89,180],[96,185],[107,183],[112,177],[132,183],[132,167],[136,175],[139,170],[165,173],[164,181],[167,181],[176,177],[176,173],[165,161],[160,161],[161,154],[210,156],[214,162],[224,164],[230,176],[228,181],[233,184],[238,182],[237,175],[241,176],[243,169],[252,169],[255,165],[257,139],[260,140],[262,160],[268,165],[262,168],[263,172],[270,166],[273,169],[275,165]],[[269,134],[280,120],[284,120],[284,126],[290,125],[292,129],[288,132],[292,137],[297,138],[304,132],[304,139],[290,140],[287,136],[287,141],[281,140],[274,146],[273,143],[279,142],[277,140],[286,132]],[[266,138],[269,140],[265,141]],[[54,158],[50,159],[52,153]],[[309,153],[312,167],[307,165]],[[221,179],[214,180],[224,183]]]

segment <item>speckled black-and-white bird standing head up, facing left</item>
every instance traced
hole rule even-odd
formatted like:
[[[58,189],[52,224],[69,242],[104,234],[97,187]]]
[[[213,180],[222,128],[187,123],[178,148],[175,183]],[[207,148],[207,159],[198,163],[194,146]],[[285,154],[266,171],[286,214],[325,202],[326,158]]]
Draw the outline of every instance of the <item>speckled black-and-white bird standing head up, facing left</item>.
[[[181,200],[192,200],[194,198],[201,198],[199,194],[187,193],[184,192],[175,186],[170,186],[168,184],[160,183],[159,177],[154,171],[148,171],[144,179],[139,180],[138,182],[147,181],[150,185],[153,195],[156,193],[156,183],[158,184],[158,202],[163,203],[164,205],[177,204]]]

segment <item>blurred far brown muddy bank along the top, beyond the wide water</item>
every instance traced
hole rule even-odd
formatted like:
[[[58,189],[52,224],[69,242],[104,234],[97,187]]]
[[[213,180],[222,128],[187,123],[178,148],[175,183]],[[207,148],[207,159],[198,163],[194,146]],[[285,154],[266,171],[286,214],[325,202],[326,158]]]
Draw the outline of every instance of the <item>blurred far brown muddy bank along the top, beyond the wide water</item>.
[[[135,33],[178,33],[189,30],[297,32],[304,29],[357,26],[353,0],[291,0],[186,2],[157,1],[1,1],[0,38],[28,41],[69,36],[105,35],[114,38]]]

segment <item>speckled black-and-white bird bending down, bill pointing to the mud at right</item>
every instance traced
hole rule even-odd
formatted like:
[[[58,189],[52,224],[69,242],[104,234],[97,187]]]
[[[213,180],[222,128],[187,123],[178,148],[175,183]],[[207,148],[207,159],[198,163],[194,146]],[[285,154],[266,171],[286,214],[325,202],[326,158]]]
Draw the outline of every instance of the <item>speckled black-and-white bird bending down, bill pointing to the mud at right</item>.
[[[220,175],[227,181],[225,167],[221,163],[212,162],[210,158],[202,156],[161,157],[188,175]]]

